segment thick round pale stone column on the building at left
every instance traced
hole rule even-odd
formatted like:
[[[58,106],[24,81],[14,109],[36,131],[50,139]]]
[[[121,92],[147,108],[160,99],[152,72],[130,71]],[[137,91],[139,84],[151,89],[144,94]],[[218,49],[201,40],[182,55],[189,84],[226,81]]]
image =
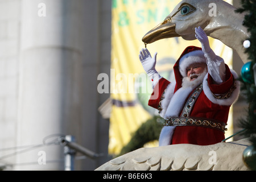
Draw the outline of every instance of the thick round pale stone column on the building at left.
[[[17,146],[79,130],[81,8],[81,0],[22,1]],[[63,158],[63,146],[35,146],[17,155],[28,165],[15,169],[63,170]]]

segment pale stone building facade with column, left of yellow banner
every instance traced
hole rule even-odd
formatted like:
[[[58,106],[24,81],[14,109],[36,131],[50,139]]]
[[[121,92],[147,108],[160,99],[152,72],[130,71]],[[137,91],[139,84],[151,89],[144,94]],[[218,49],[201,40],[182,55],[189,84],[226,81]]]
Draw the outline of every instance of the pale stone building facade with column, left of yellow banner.
[[[75,170],[108,160],[109,121],[98,107],[97,76],[110,72],[110,0],[0,2],[0,167],[63,170],[64,146],[76,143]]]

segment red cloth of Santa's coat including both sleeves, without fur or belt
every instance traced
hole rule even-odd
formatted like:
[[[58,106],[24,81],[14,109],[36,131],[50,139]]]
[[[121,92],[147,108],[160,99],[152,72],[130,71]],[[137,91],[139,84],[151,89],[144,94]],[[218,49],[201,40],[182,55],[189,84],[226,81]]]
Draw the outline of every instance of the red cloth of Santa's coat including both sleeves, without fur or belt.
[[[212,93],[225,94],[229,92],[230,88],[232,88],[234,84],[235,78],[237,78],[237,75],[235,72],[231,72],[228,65],[226,65],[226,81],[222,82],[222,84],[214,84],[213,79],[209,74],[207,74],[205,77],[208,79],[204,79],[203,90],[197,98],[191,110],[190,116],[216,119],[226,123],[228,121],[230,106],[234,101],[237,100],[239,95],[240,85],[237,83],[236,89],[232,93],[232,96],[226,99],[218,100],[213,97]],[[161,78],[154,88],[154,92],[148,101],[148,105],[158,109],[160,98],[164,93],[164,90],[168,92],[167,87],[170,84],[170,81],[166,80],[165,78]],[[158,97],[155,99],[155,96]],[[186,98],[186,101],[187,99],[188,98]],[[170,138],[170,144],[190,143],[209,145],[221,142],[223,139],[225,139],[224,132],[220,130],[200,126],[176,126],[172,138]]]

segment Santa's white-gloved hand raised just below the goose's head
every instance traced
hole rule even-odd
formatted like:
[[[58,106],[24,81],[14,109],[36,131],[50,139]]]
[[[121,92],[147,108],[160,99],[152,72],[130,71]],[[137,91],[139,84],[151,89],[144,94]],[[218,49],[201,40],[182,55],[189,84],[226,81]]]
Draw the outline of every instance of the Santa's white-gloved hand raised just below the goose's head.
[[[210,48],[208,37],[205,34],[204,30],[199,26],[198,28],[195,28],[195,32],[196,32],[196,35],[195,35],[196,38],[200,41],[202,45],[202,51],[204,53],[209,53],[211,48]]]

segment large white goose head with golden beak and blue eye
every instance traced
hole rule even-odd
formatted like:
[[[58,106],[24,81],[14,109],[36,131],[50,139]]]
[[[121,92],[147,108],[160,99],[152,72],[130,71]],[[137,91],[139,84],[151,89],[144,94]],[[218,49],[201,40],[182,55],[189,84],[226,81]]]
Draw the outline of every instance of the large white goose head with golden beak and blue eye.
[[[213,14],[215,7],[216,14]],[[178,36],[195,40],[195,27],[201,26],[208,36],[235,49],[246,63],[247,55],[242,44],[249,34],[242,25],[244,15],[234,10],[234,6],[222,0],[183,0],[163,22],[147,32],[142,41],[149,44]]]

